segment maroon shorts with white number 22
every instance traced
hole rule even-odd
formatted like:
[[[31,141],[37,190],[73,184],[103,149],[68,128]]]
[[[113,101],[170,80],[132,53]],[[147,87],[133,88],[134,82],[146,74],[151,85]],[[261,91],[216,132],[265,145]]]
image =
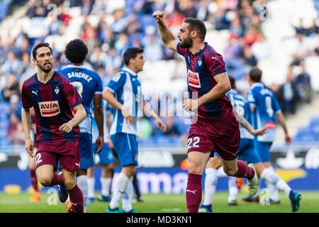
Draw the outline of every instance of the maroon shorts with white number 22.
[[[217,152],[223,160],[234,160],[240,145],[240,130],[235,115],[232,113],[218,120],[198,117],[197,122],[189,128],[187,145],[187,153],[211,152],[213,157],[213,152]]]

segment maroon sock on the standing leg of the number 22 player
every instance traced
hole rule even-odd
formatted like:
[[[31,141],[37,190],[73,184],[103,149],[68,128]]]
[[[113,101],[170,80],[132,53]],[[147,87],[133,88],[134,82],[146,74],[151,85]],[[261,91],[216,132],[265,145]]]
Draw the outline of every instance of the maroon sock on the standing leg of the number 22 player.
[[[198,213],[201,204],[201,175],[189,173],[186,187],[186,204],[189,213]]]

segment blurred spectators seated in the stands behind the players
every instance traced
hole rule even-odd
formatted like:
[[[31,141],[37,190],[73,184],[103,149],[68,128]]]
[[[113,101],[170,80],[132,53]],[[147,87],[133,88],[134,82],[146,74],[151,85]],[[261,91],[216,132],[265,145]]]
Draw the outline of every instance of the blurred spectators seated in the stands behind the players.
[[[230,35],[223,57],[228,74],[236,79],[244,80],[250,67],[258,65],[259,60],[269,57],[267,35],[262,30],[262,13],[264,0],[4,0],[0,3],[0,21],[10,14],[12,9],[24,6],[25,20],[35,29],[40,26],[38,35],[30,35],[21,26],[20,31],[8,31],[0,36],[0,145],[24,145],[21,125],[20,88],[24,79],[35,73],[30,59],[33,45],[45,41],[48,35],[62,37],[72,30],[72,9],[80,9],[82,20],[77,36],[82,38],[89,48],[86,65],[99,73],[106,84],[110,77],[123,66],[121,53],[125,48],[141,46],[145,50],[146,61],[174,60],[174,52],[164,48],[159,39],[152,12],[162,10],[167,15],[170,28],[179,29],[186,17],[195,17],[211,26],[216,31],[227,30]],[[56,4],[57,11],[52,11],[50,4]],[[313,1],[319,11],[319,1]],[[48,8],[49,6],[49,8]],[[56,13],[56,14],[53,14]],[[89,16],[98,18],[91,23]],[[319,38],[318,21],[310,27],[303,26],[301,19],[295,28],[294,38],[298,48],[294,49],[293,61],[289,65],[284,84],[269,85],[279,99],[284,114],[295,114],[298,105],[310,103],[312,88],[304,60],[308,56],[319,55],[319,45],[308,48],[305,38]],[[34,30],[34,31],[35,31]],[[36,33],[36,32],[35,32]],[[56,40],[56,39],[55,39]],[[319,43],[319,42],[318,42]],[[67,65],[67,59],[59,43],[50,43],[53,47],[55,70]],[[211,43],[214,46],[214,43]],[[293,70],[298,66],[300,70]],[[281,75],[284,77],[285,75]],[[148,118],[138,121],[142,141],[155,140],[163,143],[186,141],[188,126],[178,117],[167,117],[168,130],[162,134]],[[167,136],[169,135],[169,136]]]

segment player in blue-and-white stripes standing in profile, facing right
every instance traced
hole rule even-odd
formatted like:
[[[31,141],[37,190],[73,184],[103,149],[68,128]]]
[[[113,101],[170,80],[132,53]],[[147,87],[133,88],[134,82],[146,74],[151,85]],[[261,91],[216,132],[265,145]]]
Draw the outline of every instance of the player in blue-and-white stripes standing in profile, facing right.
[[[138,165],[138,140],[136,122],[138,113],[144,108],[145,114],[155,119],[162,131],[166,125],[143,99],[138,72],[142,71],[145,63],[141,48],[128,48],[123,54],[124,67],[113,76],[111,82],[103,91],[103,98],[116,108],[111,126],[111,140],[114,145],[122,170],[118,175],[116,187],[107,212],[118,213],[121,197],[123,196],[123,211],[135,212],[132,208],[133,175]]]

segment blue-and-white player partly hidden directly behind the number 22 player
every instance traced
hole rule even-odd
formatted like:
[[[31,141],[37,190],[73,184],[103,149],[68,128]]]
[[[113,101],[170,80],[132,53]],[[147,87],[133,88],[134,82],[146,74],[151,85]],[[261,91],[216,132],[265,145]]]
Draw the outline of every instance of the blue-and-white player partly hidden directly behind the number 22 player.
[[[252,124],[252,113],[250,111],[250,104],[246,101],[245,97],[240,95],[235,87],[235,79],[230,77],[230,84],[232,89],[228,92],[228,97],[232,102],[233,108],[237,111],[238,114],[244,116],[250,124]],[[267,126],[262,126],[267,127]],[[250,126],[251,128],[251,126]],[[250,130],[249,130],[250,131]],[[257,170],[257,175],[260,179],[264,179],[269,184],[272,184],[276,187],[279,187],[281,190],[290,188],[289,185],[281,179],[276,172],[271,172],[264,167],[261,157],[257,151],[256,146],[254,145],[254,136],[257,133],[248,132],[245,127],[240,127],[240,148],[239,148],[239,159],[245,160],[248,163],[253,163]],[[262,134],[267,134],[262,133]],[[203,205],[200,207],[202,213],[212,212],[212,200],[213,194],[215,193],[217,185],[217,170],[221,167],[221,162],[218,158],[213,158],[208,162],[209,165],[206,166],[206,179],[205,179],[205,194]],[[236,179],[234,177],[229,179],[229,197],[228,204],[237,205],[237,185]],[[291,201],[293,204],[293,201]]]

